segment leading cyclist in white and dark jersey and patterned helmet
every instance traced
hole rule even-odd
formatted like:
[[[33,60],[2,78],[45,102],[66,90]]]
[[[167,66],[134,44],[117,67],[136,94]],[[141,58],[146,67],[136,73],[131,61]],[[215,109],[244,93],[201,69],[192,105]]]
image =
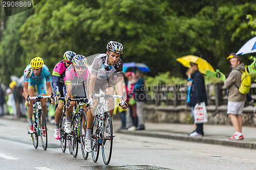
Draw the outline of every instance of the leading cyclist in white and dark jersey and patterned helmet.
[[[88,78],[88,93],[91,109],[95,108],[91,98],[92,92],[94,90],[96,91],[96,93],[98,93],[100,88],[106,94],[115,94],[115,88],[112,79],[112,74],[115,71],[117,74],[117,94],[122,95],[123,92],[123,62],[120,59],[120,54],[123,53],[123,45],[117,41],[110,41],[108,45],[106,45],[106,50],[106,54],[99,54],[95,57],[92,65],[89,68],[90,74]],[[119,106],[122,109],[126,109],[127,104],[124,103],[124,105],[122,105],[121,98],[119,99],[119,101]],[[108,106],[108,108],[112,119],[114,105],[114,99],[110,99],[110,105]],[[92,112],[94,113],[94,110],[92,110]],[[91,123],[88,123],[88,132],[90,132],[92,128],[92,122],[93,119],[91,120]],[[113,132],[113,136],[115,136],[115,132]],[[91,136],[87,136],[87,138],[91,138]]]

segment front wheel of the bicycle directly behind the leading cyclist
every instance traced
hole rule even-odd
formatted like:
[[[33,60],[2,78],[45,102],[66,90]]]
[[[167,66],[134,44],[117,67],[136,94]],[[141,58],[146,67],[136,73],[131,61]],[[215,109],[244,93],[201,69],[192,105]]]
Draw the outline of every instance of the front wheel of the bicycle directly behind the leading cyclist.
[[[84,115],[84,116],[83,116]],[[83,159],[88,158],[88,152],[86,151],[86,114],[83,112],[82,116],[80,116],[80,140],[81,140],[81,150]]]

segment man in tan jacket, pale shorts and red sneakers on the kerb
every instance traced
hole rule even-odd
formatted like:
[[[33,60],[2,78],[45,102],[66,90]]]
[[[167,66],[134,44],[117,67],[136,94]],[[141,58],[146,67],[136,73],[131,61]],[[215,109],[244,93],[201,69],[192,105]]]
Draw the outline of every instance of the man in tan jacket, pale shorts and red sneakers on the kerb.
[[[228,89],[227,114],[231,119],[235,133],[229,137],[229,140],[244,139],[242,135],[242,111],[246,101],[246,93],[239,92],[241,86],[242,72],[245,71],[244,63],[241,63],[241,57],[234,55],[230,59],[232,70],[224,82],[224,87]]]

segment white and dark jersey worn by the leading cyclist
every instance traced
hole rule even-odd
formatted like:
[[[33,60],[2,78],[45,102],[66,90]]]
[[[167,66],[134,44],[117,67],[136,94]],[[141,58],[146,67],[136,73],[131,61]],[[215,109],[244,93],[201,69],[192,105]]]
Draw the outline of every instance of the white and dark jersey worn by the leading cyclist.
[[[115,71],[117,71],[117,77],[123,76],[123,62],[119,58],[116,64],[109,65],[106,54],[99,54],[93,60],[92,65],[89,67],[91,75],[97,76],[97,79],[104,80],[109,78]]]

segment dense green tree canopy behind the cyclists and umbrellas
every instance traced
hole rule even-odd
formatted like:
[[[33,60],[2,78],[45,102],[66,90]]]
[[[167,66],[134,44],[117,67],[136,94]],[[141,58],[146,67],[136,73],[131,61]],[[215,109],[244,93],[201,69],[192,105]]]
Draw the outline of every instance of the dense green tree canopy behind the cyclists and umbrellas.
[[[40,56],[52,71],[67,50],[84,56],[105,53],[108,41],[116,40],[124,45],[123,62],[147,64],[152,77],[166,71],[184,77],[176,59],[185,55],[200,56],[227,74],[227,55],[256,35],[255,11],[256,4],[245,0],[40,1],[30,17],[15,18],[26,12],[8,17],[13,25],[5,25],[0,35],[0,70],[7,80],[11,69],[2,66],[12,62],[13,73],[20,76]],[[2,24],[3,8],[0,12]],[[15,57],[7,61],[10,56]],[[248,64],[247,57],[242,60]],[[178,78],[163,79],[157,81],[179,83]]]

